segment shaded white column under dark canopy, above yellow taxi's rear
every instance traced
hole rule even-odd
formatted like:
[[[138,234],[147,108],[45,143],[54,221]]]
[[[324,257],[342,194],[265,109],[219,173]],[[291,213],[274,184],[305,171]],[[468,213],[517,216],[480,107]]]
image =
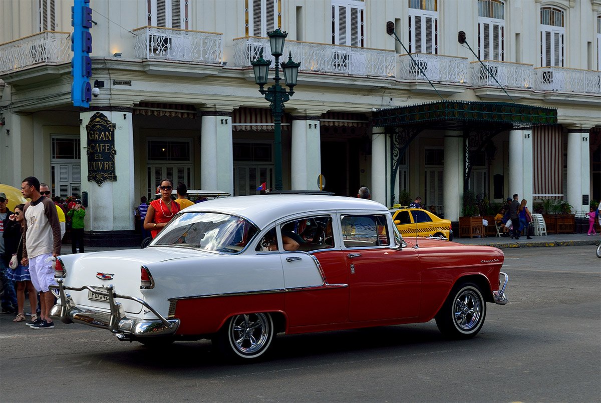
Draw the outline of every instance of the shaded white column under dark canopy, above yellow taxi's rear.
[[[459,221],[463,199],[463,136],[461,132],[445,132],[444,181],[442,202],[445,219]]]

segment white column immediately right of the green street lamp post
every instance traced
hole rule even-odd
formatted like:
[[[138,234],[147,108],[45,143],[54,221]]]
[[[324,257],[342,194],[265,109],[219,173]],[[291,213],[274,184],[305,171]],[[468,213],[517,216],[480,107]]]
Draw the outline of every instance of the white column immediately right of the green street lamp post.
[[[317,177],[322,173],[319,116],[292,118],[291,189],[319,190]],[[334,178],[326,178],[334,180]]]

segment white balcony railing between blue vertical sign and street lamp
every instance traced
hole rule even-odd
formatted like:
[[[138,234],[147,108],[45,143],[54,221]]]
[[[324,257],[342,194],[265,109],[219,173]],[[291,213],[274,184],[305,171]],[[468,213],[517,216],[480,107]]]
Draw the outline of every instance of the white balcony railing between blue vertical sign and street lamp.
[[[223,34],[144,26],[133,30],[139,59],[177,60],[222,64]]]

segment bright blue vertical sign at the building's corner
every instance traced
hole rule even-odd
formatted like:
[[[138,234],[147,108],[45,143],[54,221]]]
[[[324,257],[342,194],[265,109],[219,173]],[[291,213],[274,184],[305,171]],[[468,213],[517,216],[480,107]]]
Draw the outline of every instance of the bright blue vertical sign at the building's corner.
[[[71,7],[71,25],[73,34],[71,34],[71,50],[73,50],[73,59],[71,59],[71,75],[73,76],[73,85],[71,86],[71,99],[73,106],[90,107],[92,99],[92,86],[90,77],[92,76],[92,9],[88,7],[90,0],[73,0]]]

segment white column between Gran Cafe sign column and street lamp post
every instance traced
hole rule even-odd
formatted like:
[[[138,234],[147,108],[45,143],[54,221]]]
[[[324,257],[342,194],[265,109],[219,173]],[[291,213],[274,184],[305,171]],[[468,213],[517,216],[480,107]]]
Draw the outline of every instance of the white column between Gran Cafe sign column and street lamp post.
[[[231,112],[202,112],[200,185],[203,190],[234,193]]]

